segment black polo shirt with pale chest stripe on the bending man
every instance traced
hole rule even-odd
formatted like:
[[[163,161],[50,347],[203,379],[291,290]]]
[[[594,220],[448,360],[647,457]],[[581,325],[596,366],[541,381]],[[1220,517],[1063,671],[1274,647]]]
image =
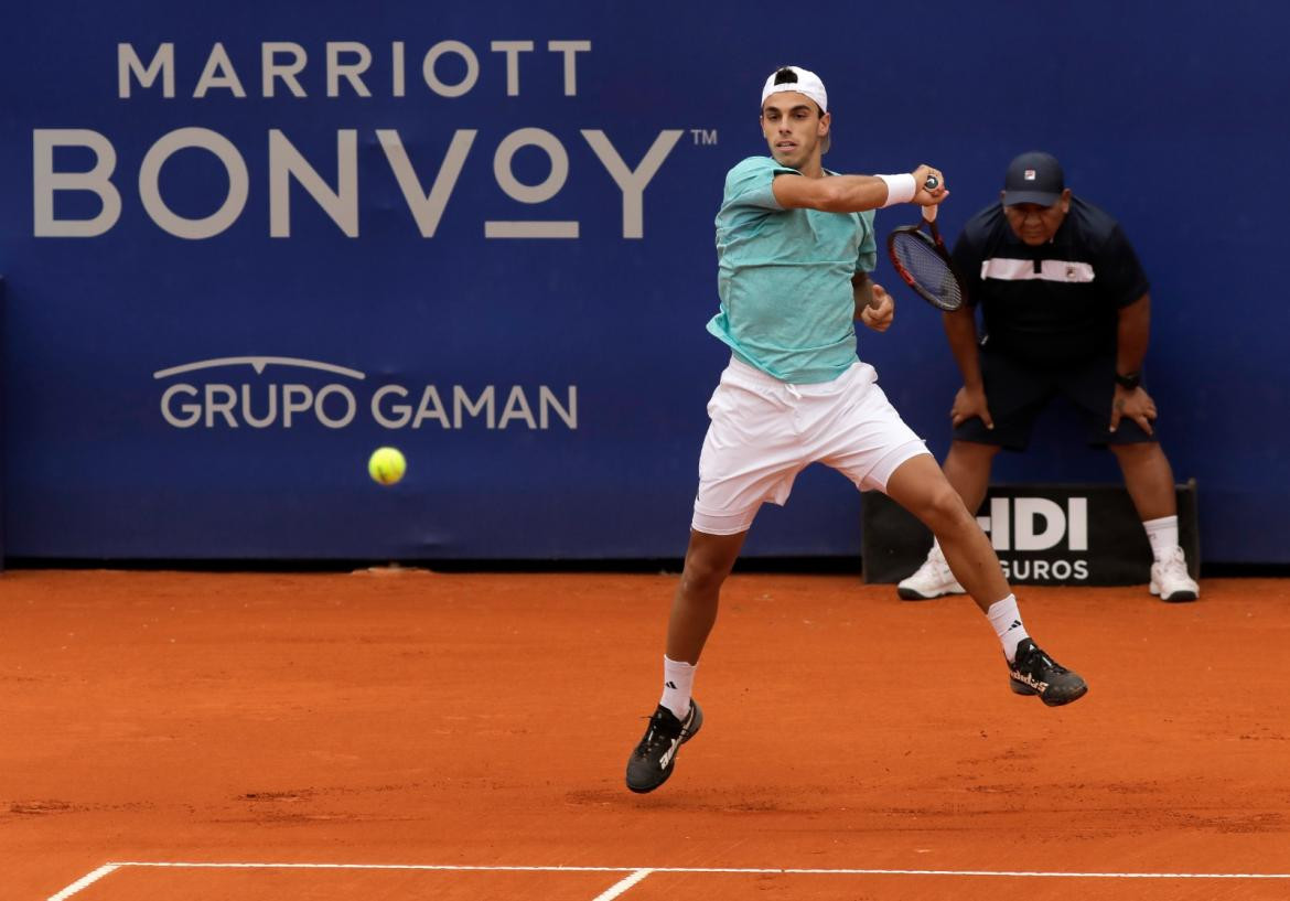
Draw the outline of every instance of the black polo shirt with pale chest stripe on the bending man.
[[[1041,247],[1013,232],[1002,204],[987,207],[964,226],[953,259],[982,309],[982,347],[1035,367],[1113,355],[1120,309],[1149,288],[1120,223],[1076,196]]]

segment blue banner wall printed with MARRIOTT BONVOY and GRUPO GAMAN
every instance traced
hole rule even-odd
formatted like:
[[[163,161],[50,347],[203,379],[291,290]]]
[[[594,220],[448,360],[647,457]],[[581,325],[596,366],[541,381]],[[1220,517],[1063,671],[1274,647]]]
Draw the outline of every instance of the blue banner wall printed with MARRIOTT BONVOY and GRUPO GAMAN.
[[[712,219],[725,172],[765,154],[761,81],[797,63],[829,86],[826,165],[935,164],[949,236],[1013,155],[1063,160],[1151,276],[1147,382],[1206,559],[1290,562],[1264,196],[1290,13],[924,14],[926,34],[828,1],[8,10],[4,552],[680,555],[728,356],[704,330]],[[876,278],[899,310],[860,356],[939,456],[958,387],[939,319]],[[1068,418],[996,475],[1117,480]],[[368,478],[381,445],[406,456],[397,485]],[[857,554],[859,509],[815,467],[747,552]]]

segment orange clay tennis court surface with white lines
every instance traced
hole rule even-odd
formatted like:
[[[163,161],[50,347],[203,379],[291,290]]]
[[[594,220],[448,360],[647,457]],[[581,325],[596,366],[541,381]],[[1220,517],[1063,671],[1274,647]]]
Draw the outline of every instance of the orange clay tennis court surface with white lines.
[[[965,598],[737,574],[633,795],[673,586],[8,572],[0,900],[1290,897],[1290,582],[1022,589],[1047,709]]]

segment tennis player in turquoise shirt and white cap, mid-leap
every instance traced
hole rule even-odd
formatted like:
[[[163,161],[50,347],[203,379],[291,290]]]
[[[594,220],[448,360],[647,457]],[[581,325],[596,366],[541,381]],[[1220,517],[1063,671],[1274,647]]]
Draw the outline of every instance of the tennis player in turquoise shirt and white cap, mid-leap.
[[[653,791],[703,725],[694,673],[716,622],[717,598],[759,507],[784,503],[797,472],[822,462],[860,489],[877,488],[937,536],[955,576],[989,618],[1014,692],[1046,705],[1087,691],[1027,635],[977,520],[855,350],[855,319],[885,330],[891,297],[869,280],[877,262],[873,210],[939,204],[931,167],[898,176],[840,176],[822,167],[832,119],[814,74],[783,67],[761,90],[770,156],[726,174],[716,217],[720,312],[708,330],[730,363],[708,403],[685,569],[672,603],[663,696],[627,762],[627,787]],[[926,190],[935,176],[938,187]]]

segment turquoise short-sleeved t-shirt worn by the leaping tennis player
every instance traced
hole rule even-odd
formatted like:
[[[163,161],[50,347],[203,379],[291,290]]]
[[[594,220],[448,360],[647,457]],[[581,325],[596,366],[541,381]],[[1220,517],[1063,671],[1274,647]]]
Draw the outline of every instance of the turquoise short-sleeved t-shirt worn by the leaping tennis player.
[[[873,210],[784,209],[770,187],[780,173],[797,174],[751,156],[726,174],[716,219],[721,312],[708,332],[775,378],[828,382],[857,359],[851,276],[877,265]]]

